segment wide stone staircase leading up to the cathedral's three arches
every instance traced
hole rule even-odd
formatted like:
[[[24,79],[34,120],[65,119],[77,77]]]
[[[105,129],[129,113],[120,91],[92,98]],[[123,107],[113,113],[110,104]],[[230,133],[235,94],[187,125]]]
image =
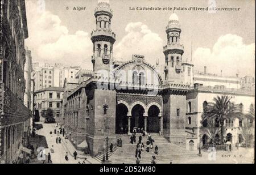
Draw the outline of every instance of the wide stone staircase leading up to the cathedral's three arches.
[[[152,139],[155,140],[154,147],[158,146],[158,155],[154,154],[154,148],[150,149],[149,152],[146,152],[144,150],[141,154],[141,164],[150,164],[152,160],[152,155],[154,154],[156,157],[157,163],[170,163],[170,161],[174,161],[177,159],[189,159],[193,157],[198,157],[196,155],[196,152],[191,152],[188,150],[185,150],[185,148],[182,148],[180,146],[177,146],[176,144],[168,142],[167,139],[165,139],[163,136],[160,136],[159,134],[151,134]],[[139,134],[136,134],[136,142],[138,143],[138,136]],[[127,135],[117,135],[117,138],[121,138],[123,140],[123,146],[122,147],[113,147],[113,152],[109,151],[109,160],[111,160],[111,163],[113,164],[134,164],[136,161],[135,157],[135,150],[136,150],[136,144],[130,143],[130,136]],[[146,145],[147,136],[144,136],[142,138],[142,143]],[[145,147],[146,148],[146,147]],[[106,152],[105,152],[106,154]],[[97,155],[95,157],[96,160],[98,160],[101,163],[101,160],[103,158],[103,153],[100,155]]]

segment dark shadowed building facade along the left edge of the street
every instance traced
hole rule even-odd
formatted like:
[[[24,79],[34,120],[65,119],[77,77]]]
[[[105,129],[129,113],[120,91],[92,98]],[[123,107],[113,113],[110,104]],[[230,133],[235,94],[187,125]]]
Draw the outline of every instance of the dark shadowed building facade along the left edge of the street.
[[[2,163],[16,160],[28,143],[31,113],[24,106],[24,64],[28,37],[24,0],[1,1],[1,151]],[[7,134],[6,134],[7,133]]]

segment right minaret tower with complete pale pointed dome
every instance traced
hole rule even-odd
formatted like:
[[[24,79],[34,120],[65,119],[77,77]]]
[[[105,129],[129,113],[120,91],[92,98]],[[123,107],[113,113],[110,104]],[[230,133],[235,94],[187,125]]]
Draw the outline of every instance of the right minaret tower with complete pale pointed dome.
[[[183,72],[181,71],[182,55],[184,46],[180,44],[179,18],[173,13],[166,27],[167,45],[163,48],[165,55],[164,74],[166,83],[183,83]]]

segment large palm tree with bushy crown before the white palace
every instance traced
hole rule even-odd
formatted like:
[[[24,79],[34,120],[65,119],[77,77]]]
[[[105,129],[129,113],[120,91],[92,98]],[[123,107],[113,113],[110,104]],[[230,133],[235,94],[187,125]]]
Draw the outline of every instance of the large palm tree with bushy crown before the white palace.
[[[214,97],[214,103],[205,106],[202,122],[213,119],[216,127],[220,127],[220,142],[224,143],[224,121],[226,119],[242,118],[242,110],[234,105],[228,96]]]

